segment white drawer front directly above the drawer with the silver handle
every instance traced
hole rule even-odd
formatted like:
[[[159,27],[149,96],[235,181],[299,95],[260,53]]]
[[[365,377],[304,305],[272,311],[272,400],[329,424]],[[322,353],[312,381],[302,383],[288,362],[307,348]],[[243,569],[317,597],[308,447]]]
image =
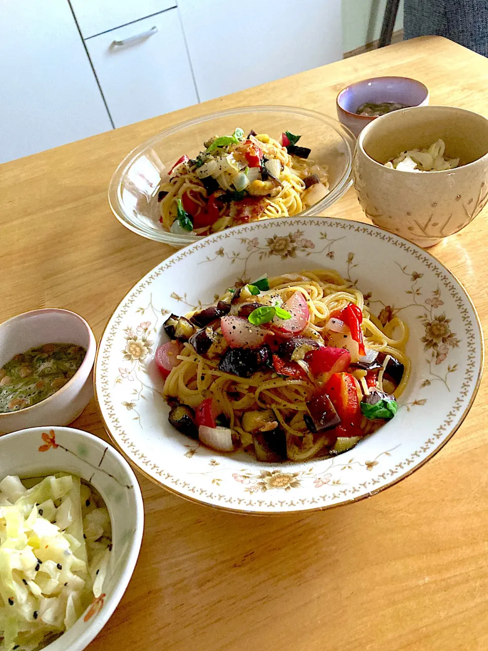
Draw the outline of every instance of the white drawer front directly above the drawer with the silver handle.
[[[176,0],[71,0],[83,38],[176,7]]]

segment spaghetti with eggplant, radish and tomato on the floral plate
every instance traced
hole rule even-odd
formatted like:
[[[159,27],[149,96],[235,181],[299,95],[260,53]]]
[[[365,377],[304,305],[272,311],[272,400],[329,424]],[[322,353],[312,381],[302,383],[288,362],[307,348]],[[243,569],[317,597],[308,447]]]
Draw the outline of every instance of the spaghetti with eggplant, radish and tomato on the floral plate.
[[[165,322],[156,364],[170,423],[215,450],[305,461],[354,447],[394,417],[408,327],[386,326],[334,270],[263,276]]]

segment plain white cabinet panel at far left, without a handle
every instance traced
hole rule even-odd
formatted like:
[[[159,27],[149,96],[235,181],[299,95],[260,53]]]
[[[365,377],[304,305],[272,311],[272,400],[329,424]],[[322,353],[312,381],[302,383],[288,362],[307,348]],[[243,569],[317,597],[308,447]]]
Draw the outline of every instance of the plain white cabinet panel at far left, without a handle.
[[[3,2],[0,162],[112,128],[66,0]]]

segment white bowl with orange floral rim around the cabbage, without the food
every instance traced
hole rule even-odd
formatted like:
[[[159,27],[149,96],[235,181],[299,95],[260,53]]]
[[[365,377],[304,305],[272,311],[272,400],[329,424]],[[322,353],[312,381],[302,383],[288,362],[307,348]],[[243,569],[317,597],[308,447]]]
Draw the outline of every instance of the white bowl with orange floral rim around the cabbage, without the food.
[[[108,622],[130,581],[141,547],[144,506],[137,479],[122,456],[92,434],[69,427],[34,427],[0,437],[0,480],[63,471],[90,482],[109,510],[112,550],[102,592],[46,651],[82,651]]]

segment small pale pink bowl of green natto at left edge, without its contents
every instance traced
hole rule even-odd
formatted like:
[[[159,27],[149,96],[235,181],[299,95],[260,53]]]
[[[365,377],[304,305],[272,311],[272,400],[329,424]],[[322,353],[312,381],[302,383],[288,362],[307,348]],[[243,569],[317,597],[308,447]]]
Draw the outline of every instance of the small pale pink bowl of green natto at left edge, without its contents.
[[[0,368],[14,355],[50,343],[77,344],[87,349],[74,376],[52,396],[32,407],[0,413],[0,434],[29,427],[66,425],[81,414],[93,396],[92,368],[96,341],[79,314],[57,308],[24,312],[0,324]]]

